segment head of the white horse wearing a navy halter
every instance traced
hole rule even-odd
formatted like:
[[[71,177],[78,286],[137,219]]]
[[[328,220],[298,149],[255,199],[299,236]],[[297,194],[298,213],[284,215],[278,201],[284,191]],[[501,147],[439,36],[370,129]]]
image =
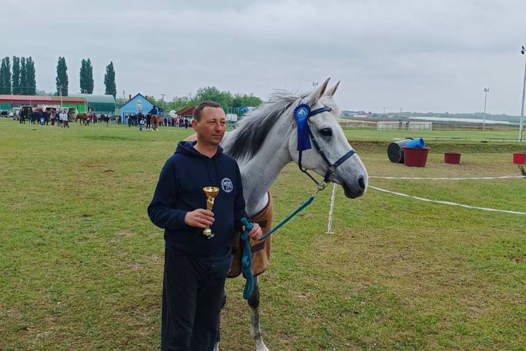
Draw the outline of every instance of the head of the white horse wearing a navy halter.
[[[312,170],[331,182],[340,184],[345,196],[356,198],[366,191],[367,171],[338,124],[337,118],[340,111],[332,97],[338,89],[339,82],[330,89],[327,89],[328,83],[329,79],[312,93],[302,96],[286,112],[295,114],[295,110],[298,111],[297,107],[300,104],[305,104],[310,108],[310,115],[306,118],[307,122],[304,122],[304,127],[306,123],[310,133],[308,131],[297,132],[298,119],[294,132],[290,134],[289,152],[294,162],[300,167]],[[296,112],[300,116],[302,113],[304,112]],[[299,124],[301,125],[301,123]],[[303,151],[298,151],[298,135],[301,139],[299,148],[304,149]],[[306,149],[305,139],[308,139],[307,144],[310,143],[311,148]],[[301,147],[301,145],[304,146]],[[333,170],[333,166],[336,166],[336,169]]]

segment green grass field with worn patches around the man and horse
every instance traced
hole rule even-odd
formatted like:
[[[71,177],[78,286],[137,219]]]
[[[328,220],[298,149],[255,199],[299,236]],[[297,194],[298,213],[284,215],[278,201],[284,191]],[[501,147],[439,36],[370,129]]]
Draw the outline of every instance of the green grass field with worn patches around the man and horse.
[[[161,166],[189,134],[0,120],[0,350],[158,349],[164,242],[146,207]],[[511,153],[524,151],[433,142],[426,168],[415,169],[388,161],[389,137],[367,138],[352,145],[371,176],[520,175]],[[461,165],[443,164],[451,147]],[[526,212],[523,179],[370,184]],[[275,218],[312,190],[289,165],[272,188]],[[373,189],[349,200],[339,188],[327,235],[330,195],[274,236],[260,280],[272,351],[526,350],[526,216]],[[227,285],[221,349],[254,350],[244,280]]]

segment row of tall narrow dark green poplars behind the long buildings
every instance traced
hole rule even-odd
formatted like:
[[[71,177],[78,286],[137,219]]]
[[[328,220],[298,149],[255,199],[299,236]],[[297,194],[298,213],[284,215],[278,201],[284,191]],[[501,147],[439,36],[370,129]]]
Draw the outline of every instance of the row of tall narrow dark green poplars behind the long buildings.
[[[36,95],[35,62],[31,57],[13,56],[13,69],[8,56],[2,59],[0,66],[0,94],[6,95]],[[55,79],[57,91],[54,95],[68,96],[69,79],[66,58],[59,56],[57,62],[57,77]],[[106,66],[104,75],[105,94],[117,95],[115,84],[115,67],[113,61]],[[80,62],[80,92],[93,94],[93,66],[90,59]]]

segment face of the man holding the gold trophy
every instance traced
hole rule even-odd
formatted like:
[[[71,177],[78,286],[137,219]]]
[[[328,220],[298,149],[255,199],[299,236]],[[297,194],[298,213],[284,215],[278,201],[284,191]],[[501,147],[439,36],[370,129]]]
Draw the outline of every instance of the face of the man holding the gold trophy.
[[[227,120],[225,112],[220,107],[205,107],[201,113],[201,121],[192,120],[192,127],[197,133],[198,142],[217,146],[225,135]]]

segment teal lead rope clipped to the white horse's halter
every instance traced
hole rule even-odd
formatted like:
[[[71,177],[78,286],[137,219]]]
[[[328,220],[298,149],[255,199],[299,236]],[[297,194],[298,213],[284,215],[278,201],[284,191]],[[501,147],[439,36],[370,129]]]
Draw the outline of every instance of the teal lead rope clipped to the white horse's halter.
[[[279,228],[285,225],[292,217],[296,216],[301,212],[302,209],[309,206],[310,203],[314,200],[316,194],[319,191],[325,189],[329,183],[321,183],[316,188],[316,191],[309,197],[309,199],[301,206],[299,206],[294,212],[292,212],[287,218],[282,220],[277,226],[272,228],[270,232],[262,236],[259,240],[263,241],[268,238],[272,233],[276,232]],[[245,226],[245,231],[241,234],[241,240],[245,242],[245,247],[243,248],[243,257],[241,258],[241,272],[245,275],[247,282],[245,283],[245,289],[243,290],[243,298],[248,300],[254,289],[254,276],[252,276],[252,250],[250,250],[250,240],[248,239],[248,233],[252,230],[252,223],[248,223],[247,218],[241,218],[241,223]]]

